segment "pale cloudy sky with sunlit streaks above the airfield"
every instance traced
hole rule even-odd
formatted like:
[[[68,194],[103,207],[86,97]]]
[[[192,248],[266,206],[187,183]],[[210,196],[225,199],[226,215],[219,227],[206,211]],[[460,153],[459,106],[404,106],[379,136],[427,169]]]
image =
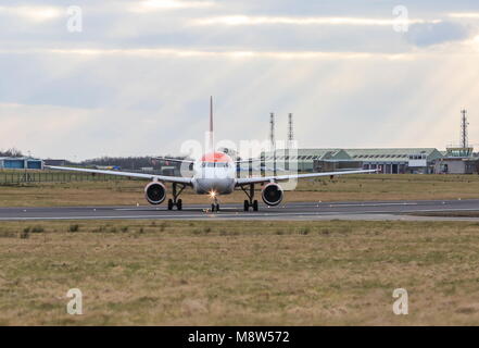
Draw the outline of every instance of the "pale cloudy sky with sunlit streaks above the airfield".
[[[479,2],[0,2],[0,149],[181,154],[203,141],[479,148]]]

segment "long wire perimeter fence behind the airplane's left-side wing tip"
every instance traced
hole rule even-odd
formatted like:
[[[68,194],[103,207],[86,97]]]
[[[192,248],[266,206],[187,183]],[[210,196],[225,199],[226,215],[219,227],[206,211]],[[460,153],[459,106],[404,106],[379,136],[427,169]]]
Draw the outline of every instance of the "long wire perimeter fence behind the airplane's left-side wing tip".
[[[111,182],[134,179],[125,176],[63,173],[63,172],[30,172],[30,171],[0,171],[0,186],[20,185],[27,183],[71,183],[71,182]]]

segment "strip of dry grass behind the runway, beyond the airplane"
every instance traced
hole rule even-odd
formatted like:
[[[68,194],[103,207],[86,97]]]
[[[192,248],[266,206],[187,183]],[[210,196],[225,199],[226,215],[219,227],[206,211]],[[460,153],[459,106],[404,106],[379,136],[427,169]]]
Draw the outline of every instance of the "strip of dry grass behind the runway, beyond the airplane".
[[[0,186],[0,207],[148,204],[146,182],[74,182]],[[171,190],[169,190],[171,192]],[[222,202],[242,202],[245,195],[220,197]],[[285,201],[403,200],[479,198],[478,175],[344,175],[303,179]],[[181,195],[185,204],[207,203],[191,189]]]

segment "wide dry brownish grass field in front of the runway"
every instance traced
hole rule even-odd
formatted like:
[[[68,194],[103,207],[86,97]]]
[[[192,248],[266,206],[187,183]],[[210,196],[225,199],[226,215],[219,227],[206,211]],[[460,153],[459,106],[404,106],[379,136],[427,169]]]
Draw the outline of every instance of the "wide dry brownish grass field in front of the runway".
[[[470,222],[3,222],[0,324],[477,325],[478,250]]]

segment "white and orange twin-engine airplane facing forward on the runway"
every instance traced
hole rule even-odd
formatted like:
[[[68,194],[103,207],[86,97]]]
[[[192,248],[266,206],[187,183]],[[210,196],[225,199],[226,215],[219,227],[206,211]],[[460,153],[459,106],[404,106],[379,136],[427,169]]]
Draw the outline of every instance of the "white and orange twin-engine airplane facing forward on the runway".
[[[252,208],[253,211],[259,211],[259,202],[254,199],[255,185],[262,185],[261,197],[266,206],[278,206],[283,197],[285,192],[279,182],[285,182],[295,178],[311,178],[319,176],[336,176],[344,174],[362,174],[374,173],[376,170],[352,170],[343,172],[326,172],[326,173],[308,173],[308,174],[285,174],[285,175],[268,175],[268,176],[255,176],[255,177],[237,177],[237,164],[247,163],[250,161],[257,161],[261,159],[240,160],[234,161],[228,154],[216,151],[214,149],[213,137],[213,98],[210,99],[210,138],[206,153],[204,153],[199,160],[179,160],[179,159],[162,159],[171,162],[181,162],[192,165],[192,177],[184,176],[165,176],[156,174],[146,173],[130,173],[123,171],[110,171],[110,170],[93,170],[81,167],[67,167],[67,166],[53,166],[46,165],[51,170],[83,172],[92,174],[109,174],[119,175],[128,177],[138,177],[149,179],[150,183],[144,187],[144,197],[150,204],[157,206],[163,203],[166,199],[166,186],[164,183],[173,184],[173,198],[167,201],[167,209],[173,210],[176,207],[177,210],[182,210],[182,200],[179,198],[185,188],[191,187],[198,195],[210,195],[213,202],[211,204],[211,211],[219,211],[218,196],[230,195],[236,188],[240,188],[247,198],[243,202],[244,211],[249,211]]]

